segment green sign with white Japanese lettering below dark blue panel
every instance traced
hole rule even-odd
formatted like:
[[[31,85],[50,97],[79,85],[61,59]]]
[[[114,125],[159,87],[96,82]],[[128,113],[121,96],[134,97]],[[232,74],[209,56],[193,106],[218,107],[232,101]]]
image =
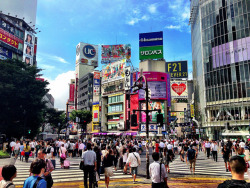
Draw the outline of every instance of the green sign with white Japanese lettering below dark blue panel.
[[[141,47],[139,51],[140,60],[163,58],[163,46]]]

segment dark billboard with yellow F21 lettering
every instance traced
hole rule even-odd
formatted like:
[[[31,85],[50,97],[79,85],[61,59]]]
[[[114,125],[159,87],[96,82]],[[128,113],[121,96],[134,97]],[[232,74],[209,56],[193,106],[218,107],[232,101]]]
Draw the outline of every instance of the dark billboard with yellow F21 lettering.
[[[170,74],[171,78],[188,77],[187,61],[166,62],[166,69],[166,72]]]

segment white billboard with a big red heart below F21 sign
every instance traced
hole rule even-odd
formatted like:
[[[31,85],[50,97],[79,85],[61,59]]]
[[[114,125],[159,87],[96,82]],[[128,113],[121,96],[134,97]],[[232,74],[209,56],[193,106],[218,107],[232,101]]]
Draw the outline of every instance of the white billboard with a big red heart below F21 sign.
[[[171,97],[188,98],[187,81],[171,81]]]

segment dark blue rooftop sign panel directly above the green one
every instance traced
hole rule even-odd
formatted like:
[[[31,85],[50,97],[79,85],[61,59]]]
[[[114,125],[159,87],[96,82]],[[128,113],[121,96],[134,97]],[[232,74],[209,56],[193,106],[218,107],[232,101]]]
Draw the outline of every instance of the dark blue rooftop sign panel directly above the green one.
[[[139,34],[139,47],[163,46],[163,32],[151,32]]]

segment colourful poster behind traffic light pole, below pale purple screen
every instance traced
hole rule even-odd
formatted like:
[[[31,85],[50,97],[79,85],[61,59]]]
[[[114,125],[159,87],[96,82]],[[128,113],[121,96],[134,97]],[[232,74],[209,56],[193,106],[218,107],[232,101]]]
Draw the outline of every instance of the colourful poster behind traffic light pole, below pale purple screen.
[[[161,110],[161,113],[163,114],[163,118],[165,116],[165,105],[164,102],[160,101],[150,101],[148,104],[148,109],[149,110]],[[146,110],[146,103],[143,102],[141,103],[141,110]],[[157,122],[157,114],[158,111],[153,111],[149,113],[150,116],[150,122]],[[146,122],[146,113],[141,112],[141,122],[145,123]]]

